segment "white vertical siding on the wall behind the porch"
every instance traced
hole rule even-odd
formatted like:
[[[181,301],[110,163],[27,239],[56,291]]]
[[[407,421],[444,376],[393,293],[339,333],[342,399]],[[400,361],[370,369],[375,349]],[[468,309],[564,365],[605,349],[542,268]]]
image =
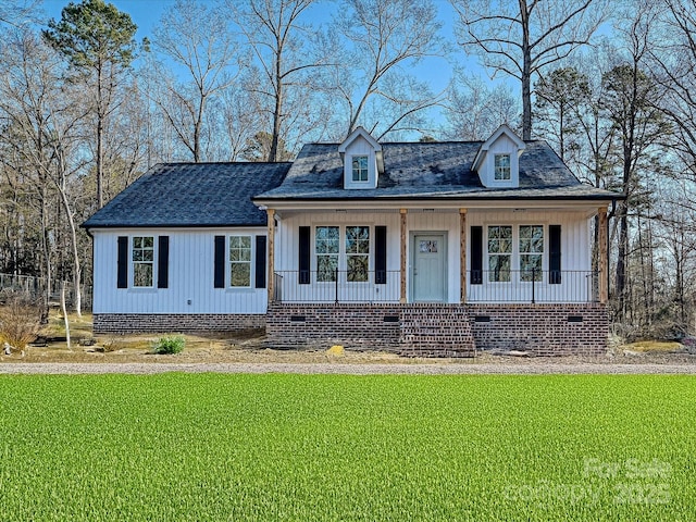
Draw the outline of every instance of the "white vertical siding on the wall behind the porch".
[[[400,215],[398,210],[384,212],[314,212],[291,214],[286,213],[279,221],[276,231],[275,247],[275,270],[278,273],[288,274],[298,270],[299,259],[299,227],[311,227],[311,259],[310,269],[316,270],[316,258],[314,252],[314,229],[316,226],[346,226],[346,225],[368,225],[371,228],[371,248],[370,248],[370,271],[374,270],[374,227],[387,227],[387,271],[390,273],[388,284],[382,286],[380,299],[398,301],[399,300],[399,279],[398,276],[393,277],[400,269]],[[561,248],[562,248],[562,271],[589,271],[592,269],[592,243],[589,221],[586,212],[572,212],[558,210],[548,211],[513,211],[513,210],[482,210],[471,209],[467,214],[467,271],[471,270],[471,250],[469,243],[471,240],[471,227],[482,226],[484,229],[484,252],[486,243],[486,227],[489,225],[544,225],[544,270],[548,270],[548,226],[561,226]],[[444,234],[446,236],[447,253],[446,253],[446,272],[447,272],[447,291],[446,302],[457,303],[460,299],[460,215],[458,209],[452,211],[423,211],[410,210],[407,213],[407,296],[411,296],[411,273],[412,273],[412,238],[414,234]],[[341,240],[344,238],[341,234]],[[517,237],[517,236],[515,236]],[[485,253],[484,253],[485,257]],[[339,261],[339,270],[345,270]],[[486,269],[486,260],[484,259],[484,270]],[[513,266],[514,269],[514,266]],[[286,275],[287,277],[287,275]],[[313,283],[313,282],[312,282]],[[286,284],[288,282],[286,281]],[[303,290],[302,300],[311,300],[311,287],[308,285]],[[378,286],[378,285],[373,285]],[[472,290],[472,286],[473,288]],[[468,295],[474,297],[476,291],[481,291],[481,286],[468,285]],[[558,287],[552,288],[559,297]],[[321,291],[316,288],[318,291]],[[486,299],[490,299],[490,288],[487,288]],[[576,291],[576,289],[573,289]],[[374,295],[374,294],[373,294]],[[409,297],[410,299],[410,297]]]

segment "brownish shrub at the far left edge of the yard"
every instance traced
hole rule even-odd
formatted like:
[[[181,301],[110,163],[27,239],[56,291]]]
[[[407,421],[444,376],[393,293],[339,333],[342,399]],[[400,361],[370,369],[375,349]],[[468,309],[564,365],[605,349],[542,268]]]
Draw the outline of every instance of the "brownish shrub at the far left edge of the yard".
[[[23,350],[36,339],[41,322],[41,309],[30,298],[14,291],[2,293],[0,304],[0,340]],[[0,343],[0,344],[2,344]]]

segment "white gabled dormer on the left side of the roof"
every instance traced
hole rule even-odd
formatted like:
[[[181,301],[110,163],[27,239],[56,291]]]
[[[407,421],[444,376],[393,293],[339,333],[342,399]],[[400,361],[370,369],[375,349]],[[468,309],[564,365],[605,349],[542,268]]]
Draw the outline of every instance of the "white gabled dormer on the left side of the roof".
[[[344,188],[377,188],[384,172],[382,146],[364,128],[358,127],[338,146],[344,160]]]

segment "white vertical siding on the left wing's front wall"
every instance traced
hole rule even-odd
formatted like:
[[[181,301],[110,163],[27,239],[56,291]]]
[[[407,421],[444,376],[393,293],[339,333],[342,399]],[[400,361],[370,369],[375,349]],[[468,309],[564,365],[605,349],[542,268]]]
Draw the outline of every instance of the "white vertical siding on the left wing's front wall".
[[[257,235],[265,227],[190,228],[190,229],[92,229],[94,235],[94,313],[249,313],[263,314],[268,304],[266,288],[254,288]],[[251,286],[228,286],[229,264],[225,256],[225,288],[214,288],[215,236],[251,236]],[[169,236],[169,284],[152,288],[132,286],[133,264],[128,263],[128,288],[117,288],[117,240],[128,236]],[[157,272],[158,252],[154,266]],[[130,249],[128,249],[130,261]],[[268,286],[268,274],[266,274]]]

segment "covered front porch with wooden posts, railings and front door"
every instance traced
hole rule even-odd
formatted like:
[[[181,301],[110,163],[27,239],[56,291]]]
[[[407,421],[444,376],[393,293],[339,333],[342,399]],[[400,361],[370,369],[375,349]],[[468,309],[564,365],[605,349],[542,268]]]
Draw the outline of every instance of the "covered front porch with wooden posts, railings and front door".
[[[605,304],[608,298],[606,207],[585,207],[574,214],[568,204],[561,209],[548,203],[543,209],[474,206],[378,212],[316,209],[298,215],[269,209],[268,213],[268,270],[273,274],[269,302]],[[588,226],[594,214],[599,216],[595,266]],[[347,257],[344,249],[352,244],[346,236],[346,246],[340,245],[339,234],[347,235],[351,226],[363,229],[363,264],[341,261]],[[338,245],[336,261],[328,266],[319,259],[326,243],[320,236],[326,229],[335,232]],[[279,263],[278,236],[285,244]],[[302,241],[308,252],[304,262]],[[299,245],[289,256],[288,243]]]

